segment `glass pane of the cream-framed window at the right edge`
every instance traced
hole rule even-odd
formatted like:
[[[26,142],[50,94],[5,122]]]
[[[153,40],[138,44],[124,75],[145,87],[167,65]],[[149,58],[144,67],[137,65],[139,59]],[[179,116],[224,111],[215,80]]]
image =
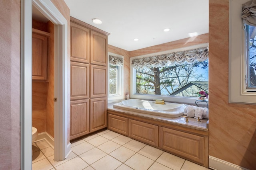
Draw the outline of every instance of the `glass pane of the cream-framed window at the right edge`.
[[[246,55],[246,90],[256,90],[256,27],[246,25],[247,55]]]

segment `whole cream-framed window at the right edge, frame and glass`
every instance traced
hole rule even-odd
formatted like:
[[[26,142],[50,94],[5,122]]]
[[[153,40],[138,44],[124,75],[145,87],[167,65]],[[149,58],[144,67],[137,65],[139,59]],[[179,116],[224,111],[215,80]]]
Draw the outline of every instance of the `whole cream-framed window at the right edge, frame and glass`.
[[[251,2],[248,0],[230,1],[228,72],[230,103],[256,104],[256,89],[253,85],[255,70],[252,71],[252,68],[255,68],[255,58],[253,57],[255,35],[253,35],[253,27],[244,26],[244,21],[249,21],[250,18],[243,18],[250,16],[243,15],[244,7],[248,6],[247,3]],[[253,20],[255,21],[255,19]]]

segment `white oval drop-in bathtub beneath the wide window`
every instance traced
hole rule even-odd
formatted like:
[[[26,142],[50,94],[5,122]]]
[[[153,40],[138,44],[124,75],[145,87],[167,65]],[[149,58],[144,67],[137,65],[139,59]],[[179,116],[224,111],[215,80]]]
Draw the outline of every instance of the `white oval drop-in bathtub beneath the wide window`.
[[[156,104],[154,101],[129,99],[114,104],[114,108],[146,113],[150,115],[158,115],[164,117],[180,117],[184,115],[184,104],[168,103]]]

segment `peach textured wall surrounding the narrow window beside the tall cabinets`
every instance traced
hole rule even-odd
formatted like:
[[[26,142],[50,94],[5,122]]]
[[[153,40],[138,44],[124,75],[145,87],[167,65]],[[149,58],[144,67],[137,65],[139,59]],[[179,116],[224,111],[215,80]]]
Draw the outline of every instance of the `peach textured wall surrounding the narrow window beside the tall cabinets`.
[[[130,94],[130,57],[129,51],[108,45],[108,52],[124,56],[124,98],[126,92]]]

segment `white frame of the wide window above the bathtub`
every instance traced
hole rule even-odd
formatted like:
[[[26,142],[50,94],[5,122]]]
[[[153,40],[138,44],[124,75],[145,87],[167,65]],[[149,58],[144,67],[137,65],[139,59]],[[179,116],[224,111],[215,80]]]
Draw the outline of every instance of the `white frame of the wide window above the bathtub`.
[[[172,53],[176,51],[185,51],[188,49],[196,49],[201,47],[206,47],[208,43],[198,44],[198,45],[192,45],[189,47],[182,47],[178,49],[172,49],[168,51],[161,51],[158,53],[151,53],[147,55],[141,55],[136,57],[130,58],[130,97],[135,99],[142,99],[142,100],[154,100],[154,99],[163,99],[166,102],[174,102],[174,103],[186,103],[186,104],[195,104],[196,98],[194,97],[180,97],[180,96],[162,96],[162,95],[150,95],[150,94],[136,94],[136,69],[132,67],[132,60],[143,58],[143,57],[150,57],[153,55],[162,55],[166,53]],[[204,102],[202,102],[202,105],[205,105]]]

